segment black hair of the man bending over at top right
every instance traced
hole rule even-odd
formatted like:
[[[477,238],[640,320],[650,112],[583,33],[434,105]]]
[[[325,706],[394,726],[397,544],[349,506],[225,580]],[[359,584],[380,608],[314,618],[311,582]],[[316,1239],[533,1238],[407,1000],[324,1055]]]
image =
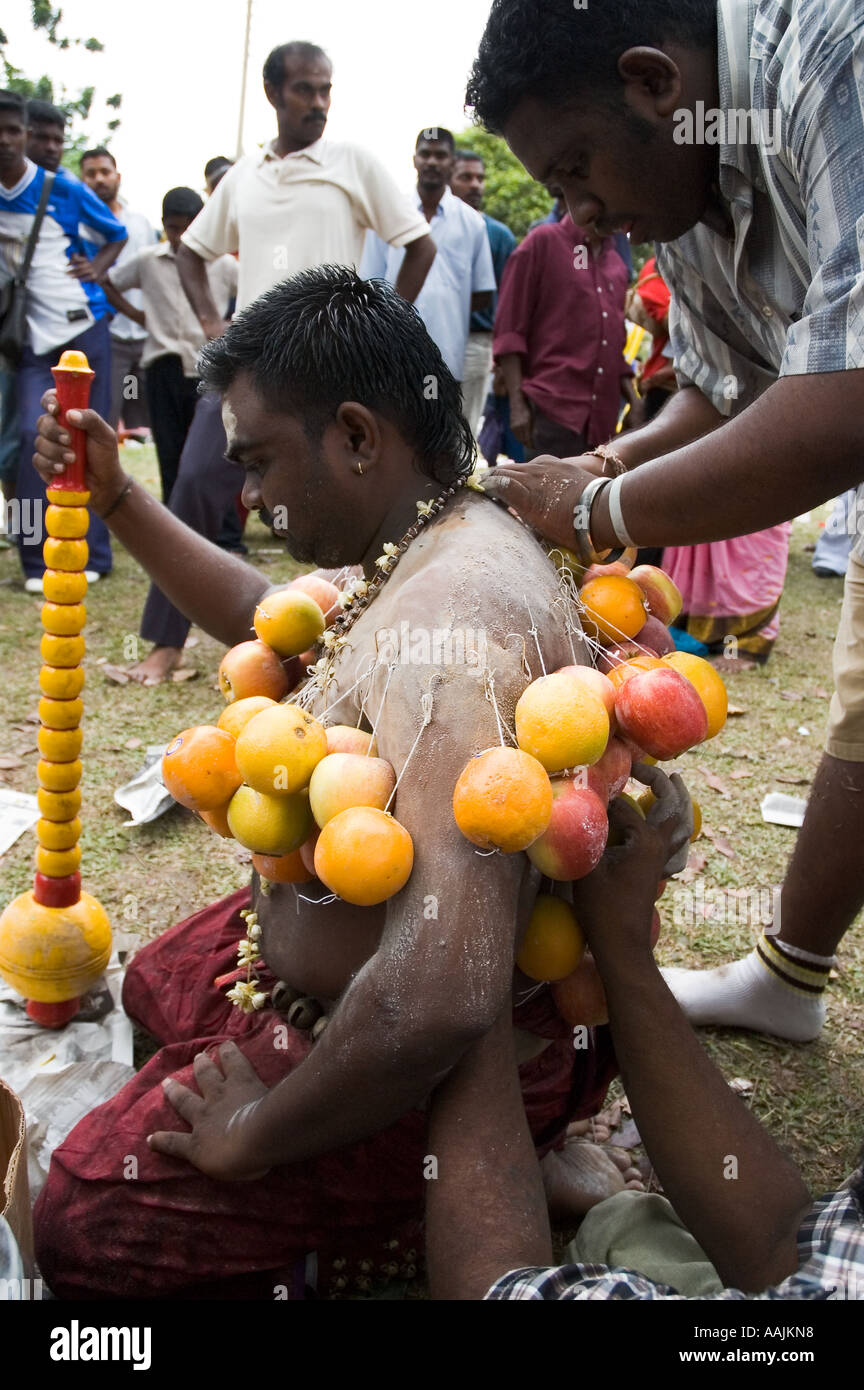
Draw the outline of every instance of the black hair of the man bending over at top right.
[[[501,133],[526,96],[549,106],[608,97],[628,49],[689,49],[717,43],[715,0],[495,0],[471,70],[465,104],[486,129]]]

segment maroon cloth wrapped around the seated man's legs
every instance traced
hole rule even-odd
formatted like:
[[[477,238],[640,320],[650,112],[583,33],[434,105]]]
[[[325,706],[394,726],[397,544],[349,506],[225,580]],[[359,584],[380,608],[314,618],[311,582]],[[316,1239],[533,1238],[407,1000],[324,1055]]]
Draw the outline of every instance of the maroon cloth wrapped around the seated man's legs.
[[[194,1087],[192,1061],[228,1038],[275,1086],[311,1051],[274,1009],[243,1013],[213,984],[236,966],[249,890],[197,912],[144,947],[126,972],[124,1006],[165,1044],[124,1088],[86,1115],[56,1150],[33,1212],[36,1254],[61,1298],[274,1298],[297,1291],[297,1264],[318,1254],[322,1293],[332,1262],[411,1262],[422,1245],[426,1116],[411,1111],[372,1138],[253,1183],[219,1183],[156,1154],[147,1136],[181,1129],[161,1081]],[[264,977],[264,972],[260,972]],[[267,979],[267,986],[272,977]],[[539,1151],[570,1120],[595,1115],[617,1065],[608,1030],[575,1051],[549,991],[514,1011],[518,1027],[556,1041],[521,1068]],[[275,1034],[275,1029],[281,1029]],[[279,1045],[285,1042],[285,1045]],[[399,1241],[394,1248],[390,1241]],[[338,1266],[339,1268],[339,1266]]]

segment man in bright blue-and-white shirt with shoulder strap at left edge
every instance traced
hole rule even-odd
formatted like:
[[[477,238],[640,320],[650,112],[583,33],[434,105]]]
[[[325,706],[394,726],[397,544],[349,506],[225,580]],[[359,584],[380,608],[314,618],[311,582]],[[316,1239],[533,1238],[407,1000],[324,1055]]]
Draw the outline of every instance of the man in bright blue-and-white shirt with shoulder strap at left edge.
[[[0,93],[0,285],[21,264],[33,225],[46,171],[25,154],[26,117],[15,92]],[[93,260],[85,256],[79,222],[104,236]],[[42,395],[53,385],[51,367],[64,349],[88,356],[93,378],[92,406],[107,414],[111,404],[111,342],[108,302],[97,279],[117,260],[126,239],[125,227],[72,174],[57,170],[26,282],[26,342],[18,366],[18,418],[21,455],[17,498],[21,509],[36,516],[44,505],[44,485],[32,464],[33,435],[42,413]],[[28,592],[42,591],[42,528],[29,525],[18,537]],[[36,535],[36,538],[35,538]],[[90,516],[88,531],[90,582],[111,569],[108,531]]]

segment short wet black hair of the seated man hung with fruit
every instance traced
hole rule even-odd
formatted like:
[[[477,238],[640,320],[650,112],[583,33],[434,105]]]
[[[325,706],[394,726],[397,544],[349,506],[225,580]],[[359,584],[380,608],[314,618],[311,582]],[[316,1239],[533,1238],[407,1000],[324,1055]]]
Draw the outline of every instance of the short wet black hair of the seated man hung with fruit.
[[[311,438],[356,400],[392,421],[438,482],[471,473],[458,382],[417,310],[385,281],[318,265],[268,289],[199,357],[207,391],[228,391],[240,373]]]

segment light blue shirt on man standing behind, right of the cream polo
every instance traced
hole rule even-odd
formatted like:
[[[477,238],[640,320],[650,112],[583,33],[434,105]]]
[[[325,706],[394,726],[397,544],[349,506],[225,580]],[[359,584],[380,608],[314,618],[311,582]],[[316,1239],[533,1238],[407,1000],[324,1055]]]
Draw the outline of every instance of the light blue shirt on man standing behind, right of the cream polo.
[[[479,213],[456,197],[449,188],[445,188],[429,224],[418,193],[414,200],[438,249],[414,307],[445,363],[456,379],[461,381],[471,328],[471,296],[497,289],[486,224]],[[371,232],[360,274],[365,279],[386,279],[394,285],[403,259],[404,252],[399,250],[399,243],[388,247],[385,239]]]

